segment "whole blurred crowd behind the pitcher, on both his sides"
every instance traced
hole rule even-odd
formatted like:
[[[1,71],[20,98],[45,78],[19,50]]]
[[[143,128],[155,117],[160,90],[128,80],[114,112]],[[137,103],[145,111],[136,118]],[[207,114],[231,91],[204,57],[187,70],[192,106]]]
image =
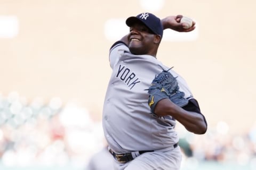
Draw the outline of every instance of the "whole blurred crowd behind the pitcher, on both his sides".
[[[177,126],[184,160],[235,162],[256,167],[256,126],[243,134],[231,134],[219,122],[204,135]],[[0,161],[4,166],[85,167],[106,147],[101,121],[86,108],[36,98],[28,102],[17,92],[0,95]]]

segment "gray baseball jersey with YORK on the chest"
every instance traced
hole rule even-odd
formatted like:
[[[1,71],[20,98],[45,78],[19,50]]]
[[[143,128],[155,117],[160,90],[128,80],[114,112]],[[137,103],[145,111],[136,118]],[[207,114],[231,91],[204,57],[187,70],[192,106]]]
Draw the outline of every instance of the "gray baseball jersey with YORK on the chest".
[[[113,73],[103,105],[103,130],[109,147],[116,152],[158,150],[179,141],[175,120],[150,113],[147,90],[155,75],[169,69],[150,55],[133,55],[121,41],[110,48]],[[185,80],[177,77],[185,98],[193,98]]]

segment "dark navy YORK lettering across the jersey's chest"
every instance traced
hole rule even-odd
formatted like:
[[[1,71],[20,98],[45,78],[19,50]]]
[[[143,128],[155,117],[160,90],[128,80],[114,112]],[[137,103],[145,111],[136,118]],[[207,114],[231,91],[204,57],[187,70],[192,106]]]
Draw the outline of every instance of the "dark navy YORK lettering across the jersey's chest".
[[[136,78],[136,74],[131,72],[131,70],[123,65],[119,65],[118,72],[116,74],[116,78],[122,80],[130,90],[135,86],[135,84],[139,83],[139,78]]]

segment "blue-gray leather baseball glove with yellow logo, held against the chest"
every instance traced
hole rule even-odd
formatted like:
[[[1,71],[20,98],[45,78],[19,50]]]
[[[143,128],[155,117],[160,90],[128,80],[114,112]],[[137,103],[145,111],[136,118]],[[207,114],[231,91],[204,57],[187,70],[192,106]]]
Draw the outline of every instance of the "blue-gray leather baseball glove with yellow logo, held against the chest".
[[[169,98],[174,104],[180,107],[188,104],[188,100],[184,98],[184,92],[179,91],[177,78],[174,78],[169,70],[163,69],[161,73],[156,75],[149,89],[147,89],[149,94],[148,105],[153,114],[158,101],[165,98]]]

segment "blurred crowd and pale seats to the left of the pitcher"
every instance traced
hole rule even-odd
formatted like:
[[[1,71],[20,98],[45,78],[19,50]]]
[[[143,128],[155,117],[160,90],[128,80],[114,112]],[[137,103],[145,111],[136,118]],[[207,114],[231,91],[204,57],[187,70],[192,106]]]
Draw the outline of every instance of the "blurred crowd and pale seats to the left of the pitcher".
[[[0,95],[0,161],[4,166],[83,167],[105,145],[101,122],[60,98],[28,102]]]

